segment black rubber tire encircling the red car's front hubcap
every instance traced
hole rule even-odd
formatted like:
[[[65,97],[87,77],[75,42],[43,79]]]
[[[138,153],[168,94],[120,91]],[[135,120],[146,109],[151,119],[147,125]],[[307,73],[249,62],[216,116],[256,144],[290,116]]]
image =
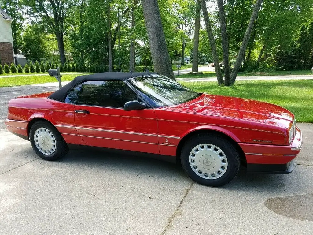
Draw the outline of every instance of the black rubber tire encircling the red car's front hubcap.
[[[189,154],[191,153],[192,149],[199,144],[213,144],[221,149],[226,155],[228,165],[225,173],[223,173],[223,175],[219,178],[205,179],[197,175],[195,171],[192,170],[192,166],[189,163]],[[223,138],[223,136],[215,133],[202,133],[192,136],[183,145],[181,151],[181,163],[182,168],[185,170],[187,175],[197,183],[207,186],[222,186],[226,185],[236,177],[239,171],[240,157],[238,150],[228,139]]]

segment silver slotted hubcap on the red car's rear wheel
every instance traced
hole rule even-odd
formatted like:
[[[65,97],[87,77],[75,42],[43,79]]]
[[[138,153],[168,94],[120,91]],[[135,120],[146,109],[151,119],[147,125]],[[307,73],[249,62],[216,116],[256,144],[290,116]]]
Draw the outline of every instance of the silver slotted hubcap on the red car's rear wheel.
[[[54,135],[47,128],[38,128],[34,134],[37,149],[45,155],[53,154],[56,148]]]

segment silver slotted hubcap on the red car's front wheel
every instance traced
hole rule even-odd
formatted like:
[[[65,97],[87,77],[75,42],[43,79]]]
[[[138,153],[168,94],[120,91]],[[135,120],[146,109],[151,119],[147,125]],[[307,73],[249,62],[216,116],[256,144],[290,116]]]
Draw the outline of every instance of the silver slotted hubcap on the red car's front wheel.
[[[213,144],[199,144],[189,154],[191,169],[200,177],[215,180],[225,174],[227,157]]]

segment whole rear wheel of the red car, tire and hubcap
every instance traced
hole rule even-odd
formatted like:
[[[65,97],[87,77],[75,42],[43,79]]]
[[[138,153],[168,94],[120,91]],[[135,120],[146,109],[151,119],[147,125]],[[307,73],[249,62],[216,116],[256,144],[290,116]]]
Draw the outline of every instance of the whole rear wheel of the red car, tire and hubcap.
[[[36,154],[45,160],[57,160],[68,152],[62,135],[51,123],[35,122],[30,128],[29,139]]]

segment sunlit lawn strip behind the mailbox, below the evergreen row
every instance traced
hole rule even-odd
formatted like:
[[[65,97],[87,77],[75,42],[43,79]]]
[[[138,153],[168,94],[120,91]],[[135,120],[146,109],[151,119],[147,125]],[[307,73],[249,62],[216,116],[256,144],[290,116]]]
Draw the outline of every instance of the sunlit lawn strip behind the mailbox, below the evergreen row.
[[[80,74],[63,75],[61,81],[72,81]],[[20,76],[20,77],[2,77],[0,78],[0,87],[5,86],[21,86],[46,82],[58,82],[54,77],[50,76]]]

